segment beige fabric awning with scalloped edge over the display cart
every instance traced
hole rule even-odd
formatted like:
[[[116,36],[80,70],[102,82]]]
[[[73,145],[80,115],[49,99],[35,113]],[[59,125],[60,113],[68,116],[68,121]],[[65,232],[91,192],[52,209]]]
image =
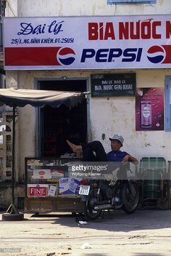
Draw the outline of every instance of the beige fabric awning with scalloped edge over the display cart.
[[[0,89],[0,105],[19,106],[33,105],[33,107],[43,107],[50,105],[58,108],[64,104],[72,107],[81,103],[85,98],[83,92],[59,92],[40,89]]]

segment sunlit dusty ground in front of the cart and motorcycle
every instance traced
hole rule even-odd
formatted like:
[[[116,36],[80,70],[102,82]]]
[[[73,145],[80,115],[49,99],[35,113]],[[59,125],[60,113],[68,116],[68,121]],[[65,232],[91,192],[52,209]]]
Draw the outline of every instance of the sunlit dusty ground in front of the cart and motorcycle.
[[[86,225],[70,214],[25,214],[23,221],[0,220],[0,226],[1,256],[171,255],[170,210],[117,210]],[[81,249],[85,244],[90,248]]]

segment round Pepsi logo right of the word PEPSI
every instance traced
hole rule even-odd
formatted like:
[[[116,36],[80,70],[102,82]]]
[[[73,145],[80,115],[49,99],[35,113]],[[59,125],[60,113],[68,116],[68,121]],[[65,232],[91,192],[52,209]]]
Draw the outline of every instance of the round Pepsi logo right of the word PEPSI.
[[[148,59],[151,63],[162,63],[164,60],[166,52],[162,46],[155,45],[150,47],[148,52]]]

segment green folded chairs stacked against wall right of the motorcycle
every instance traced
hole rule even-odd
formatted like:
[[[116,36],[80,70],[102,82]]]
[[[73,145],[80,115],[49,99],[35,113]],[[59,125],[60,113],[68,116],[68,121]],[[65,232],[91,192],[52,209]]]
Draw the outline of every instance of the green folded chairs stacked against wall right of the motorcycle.
[[[163,157],[143,157],[139,170],[142,207],[157,207],[157,203],[168,196],[166,160]]]

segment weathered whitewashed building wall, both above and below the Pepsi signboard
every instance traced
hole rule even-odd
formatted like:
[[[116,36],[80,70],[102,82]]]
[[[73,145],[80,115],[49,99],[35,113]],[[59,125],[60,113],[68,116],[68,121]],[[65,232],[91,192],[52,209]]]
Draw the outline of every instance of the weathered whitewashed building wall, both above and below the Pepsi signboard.
[[[15,5],[16,4],[16,5]],[[9,10],[13,9],[13,12]],[[157,0],[157,4],[113,4],[107,0],[9,0],[7,14],[10,16],[71,16],[71,15],[144,15],[170,14],[170,0]],[[92,73],[118,73],[119,71],[7,71],[7,86],[33,89],[37,78],[84,77],[90,81]],[[130,72],[130,71],[126,71]],[[164,76],[171,69],[136,70],[137,87],[164,87]],[[24,172],[25,156],[35,153],[35,109],[20,108],[18,122],[18,164]],[[135,97],[91,98],[91,140],[101,140],[106,151],[110,150],[109,137],[120,133],[124,138],[122,150],[138,159],[143,156],[163,156],[171,160],[171,132],[135,132]],[[105,139],[102,140],[102,134]]]

